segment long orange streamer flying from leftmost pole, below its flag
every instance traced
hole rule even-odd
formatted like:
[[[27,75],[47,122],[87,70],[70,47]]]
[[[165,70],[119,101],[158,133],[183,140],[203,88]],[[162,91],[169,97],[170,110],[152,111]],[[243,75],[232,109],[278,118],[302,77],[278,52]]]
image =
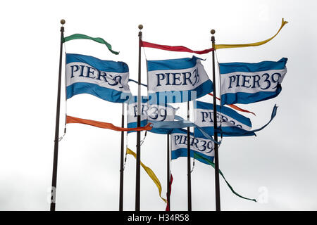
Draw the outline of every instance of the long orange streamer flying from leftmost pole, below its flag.
[[[90,125],[93,127],[112,129],[113,131],[149,131],[150,129],[152,129],[152,127],[150,126],[151,125],[150,122],[144,127],[124,128],[124,127],[116,127],[115,125],[113,125],[109,122],[99,122],[96,120],[86,120],[86,119],[71,117],[71,116],[67,115],[66,116],[66,124],[73,124],[73,123],[87,124],[87,125]]]

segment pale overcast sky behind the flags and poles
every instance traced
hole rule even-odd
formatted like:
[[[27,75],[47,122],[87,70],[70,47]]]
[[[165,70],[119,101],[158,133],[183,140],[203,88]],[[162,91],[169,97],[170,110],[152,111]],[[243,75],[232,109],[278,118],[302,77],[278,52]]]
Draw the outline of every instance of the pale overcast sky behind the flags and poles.
[[[157,44],[211,47],[242,44],[271,37],[282,18],[289,21],[275,39],[254,48],[220,49],[219,62],[288,58],[287,75],[277,98],[240,105],[256,113],[254,128],[278,114],[257,137],[224,138],[220,169],[235,191],[260,203],[233,195],[220,177],[222,210],[317,210],[316,131],[316,1],[6,1],[1,4],[1,142],[0,210],[49,210],[54,153],[56,86],[60,23],[65,36],[74,33],[103,37],[118,56],[88,40],[66,43],[68,53],[128,63],[137,79],[139,30]],[[148,59],[191,57],[144,49]],[[204,67],[211,77],[211,54]],[[142,82],[146,83],[142,51]],[[63,74],[64,75],[64,74]],[[130,83],[133,94],[137,85]],[[146,89],[142,89],[146,94]],[[62,99],[65,94],[62,92]],[[210,96],[199,100],[212,101]],[[186,103],[180,115],[185,115]],[[65,103],[61,108],[63,134]],[[68,115],[120,126],[121,105],[82,94],[68,100]],[[142,135],[143,137],[143,135]],[[136,136],[128,146],[135,150]],[[142,162],[151,167],[166,193],[166,135],[147,134]],[[118,210],[120,132],[69,124],[60,142],[56,210]],[[171,210],[187,210],[187,161],[172,162]],[[135,158],[125,167],[124,210],[135,210]],[[263,198],[266,195],[267,200]],[[264,196],[265,197],[265,196]],[[154,183],[141,169],[141,210],[165,210]],[[214,170],[195,163],[192,210],[215,210]]]

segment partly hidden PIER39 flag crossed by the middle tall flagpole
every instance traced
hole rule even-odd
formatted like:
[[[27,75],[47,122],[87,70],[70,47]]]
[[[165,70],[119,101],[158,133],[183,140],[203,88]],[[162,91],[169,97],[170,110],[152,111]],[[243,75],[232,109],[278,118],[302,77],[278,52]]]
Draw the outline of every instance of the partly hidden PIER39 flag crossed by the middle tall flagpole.
[[[174,121],[176,109],[172,106],[167,104],[150,104],[147,96],[141,96],[141,102],[141,127],[147,125],[148,122]],[[137,96],[133,96],[127,105],[127,121],[128,128],[137,127]],[[150,132],[169,134],[172,130],[173,128],[153,127]]]

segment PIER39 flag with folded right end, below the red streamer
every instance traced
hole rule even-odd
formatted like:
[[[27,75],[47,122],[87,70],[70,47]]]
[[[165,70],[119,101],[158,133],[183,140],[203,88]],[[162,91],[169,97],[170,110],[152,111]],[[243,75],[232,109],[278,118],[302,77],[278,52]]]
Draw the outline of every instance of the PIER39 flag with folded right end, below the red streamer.
[[[200,58],[147,60],[148,91],[151,101],[182,103],[213,91]],[[155,100],[154,100],[155,99]]]

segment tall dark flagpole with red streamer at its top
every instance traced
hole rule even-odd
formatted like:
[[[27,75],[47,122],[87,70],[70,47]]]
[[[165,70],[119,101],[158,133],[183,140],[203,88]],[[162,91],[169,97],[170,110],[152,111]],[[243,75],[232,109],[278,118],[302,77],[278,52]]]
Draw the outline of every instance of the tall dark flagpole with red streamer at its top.
[[[137,127],[141,127],[141,41],[142,28],[139,25],[139,75],[137,81]],[[137,165],[136,165],[136,184],[135,184],[135,211],[139,211],[140,199],[140,162],[141,162],[141,131],[137,131]]]

